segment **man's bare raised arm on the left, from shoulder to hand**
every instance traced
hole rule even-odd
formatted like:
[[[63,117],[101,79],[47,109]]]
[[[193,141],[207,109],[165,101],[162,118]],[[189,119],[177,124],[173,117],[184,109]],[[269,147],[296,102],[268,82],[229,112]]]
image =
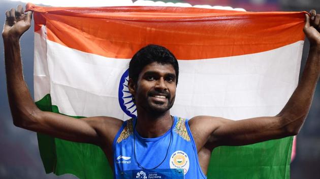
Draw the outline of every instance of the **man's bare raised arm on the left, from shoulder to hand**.
[[[110,117],[75,119],[43,112],[35,105],[23,79],[19,39],[30,27],[32,12],[21,5],[6,12],[3,28],[7,90],[13,123],[50,136],[104,147],[111,145],[122,121]],[[110,146],[105,146],[110,147]],[[111,148],[110,148],[111,149]]]

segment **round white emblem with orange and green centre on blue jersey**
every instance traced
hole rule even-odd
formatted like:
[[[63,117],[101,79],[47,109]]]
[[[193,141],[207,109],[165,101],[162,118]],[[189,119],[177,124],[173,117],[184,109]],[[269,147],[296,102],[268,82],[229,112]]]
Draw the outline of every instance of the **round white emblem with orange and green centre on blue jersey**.
[[[170,168],[182,168],[184,174],[188,172],[190,166],[188,155],[181,151],[175,151],[170,157]]]

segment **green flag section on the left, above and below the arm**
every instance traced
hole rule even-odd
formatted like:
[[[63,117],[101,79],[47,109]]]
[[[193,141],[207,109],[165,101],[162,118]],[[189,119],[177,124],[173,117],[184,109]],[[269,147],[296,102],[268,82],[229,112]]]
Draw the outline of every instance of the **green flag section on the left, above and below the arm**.
[[[50,94],[36,102],[36,105],[43,111],[59,113],[57,106],[51,104]],[[72,173],[79,178],[92,179],[113,178],[107,158],[98,146],[69,142],[41,133],[38,133],[38,144],[46,173]]]

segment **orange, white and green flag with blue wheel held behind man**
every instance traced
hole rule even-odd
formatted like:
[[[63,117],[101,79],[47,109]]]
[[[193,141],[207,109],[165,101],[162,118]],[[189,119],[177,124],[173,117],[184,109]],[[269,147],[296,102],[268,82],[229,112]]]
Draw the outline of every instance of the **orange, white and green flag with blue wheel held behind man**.
[[[298,84],[305,12],[179,7],[53,8],[35,20],[35,101],[76,118],[136,115],[131,57],[168,48],[180,67],[172,115],[239,120],[274,116]],[[112,178],[102,150],[38,133],[47,173]],[[213,150],[208,178],[290,178],[292,137]]]

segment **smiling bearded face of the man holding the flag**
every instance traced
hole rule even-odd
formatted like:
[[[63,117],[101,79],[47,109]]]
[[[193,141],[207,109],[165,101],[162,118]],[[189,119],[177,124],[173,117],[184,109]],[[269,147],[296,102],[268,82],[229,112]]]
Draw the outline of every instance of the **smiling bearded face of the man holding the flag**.
[[[146,112],[168,111],[176,96],[176,73],[171,64],[157,62],[146,65],[139,74],[137,83],[129,81],[129,89],[136,100],[137,109]]]

